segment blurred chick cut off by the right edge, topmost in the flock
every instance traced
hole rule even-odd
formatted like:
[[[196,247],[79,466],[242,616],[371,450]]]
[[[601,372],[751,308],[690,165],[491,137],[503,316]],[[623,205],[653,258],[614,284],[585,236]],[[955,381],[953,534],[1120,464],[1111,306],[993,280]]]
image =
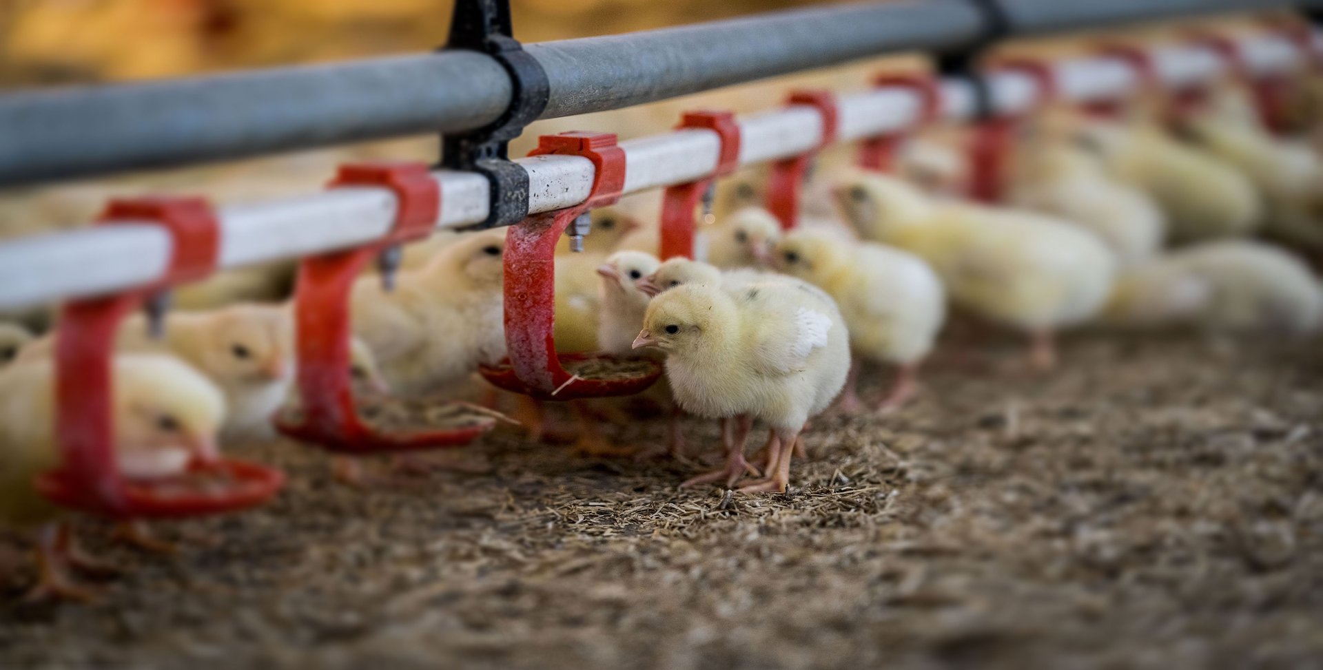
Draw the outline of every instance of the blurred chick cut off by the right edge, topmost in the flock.
[[[1323,247],[1323,160],[1306,143],[1262,127],[1244,93],[1222,90],[1181,126],[1199,147],[1248,177],[1263,198],[1265,227],[1282,239]]]

